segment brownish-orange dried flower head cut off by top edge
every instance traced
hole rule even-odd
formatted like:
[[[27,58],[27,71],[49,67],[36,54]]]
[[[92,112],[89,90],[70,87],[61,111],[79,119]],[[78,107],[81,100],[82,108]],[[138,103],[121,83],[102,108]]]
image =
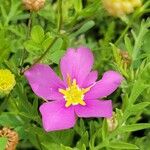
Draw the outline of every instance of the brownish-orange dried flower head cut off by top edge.
[[[44,7],[45,0],[23,0],[23,4],[27,10],[38,11]]]

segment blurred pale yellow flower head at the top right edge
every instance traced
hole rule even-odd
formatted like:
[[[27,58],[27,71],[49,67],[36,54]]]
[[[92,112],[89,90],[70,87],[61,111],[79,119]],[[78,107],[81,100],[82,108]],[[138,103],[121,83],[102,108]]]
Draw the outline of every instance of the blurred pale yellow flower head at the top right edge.
[[[104,8],[110,15],[116,17],[132,13],[141,4],[140,0],[103,0]]]

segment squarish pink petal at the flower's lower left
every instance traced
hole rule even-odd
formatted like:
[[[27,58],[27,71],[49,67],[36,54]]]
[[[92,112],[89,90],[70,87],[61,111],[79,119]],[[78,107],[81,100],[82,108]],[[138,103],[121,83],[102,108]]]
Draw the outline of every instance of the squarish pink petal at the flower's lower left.
[[[76,122],[74,108],[66,108],[63,100],[42,104],[40,112],[42,114],[43,127],[47,132],[69,129]]]

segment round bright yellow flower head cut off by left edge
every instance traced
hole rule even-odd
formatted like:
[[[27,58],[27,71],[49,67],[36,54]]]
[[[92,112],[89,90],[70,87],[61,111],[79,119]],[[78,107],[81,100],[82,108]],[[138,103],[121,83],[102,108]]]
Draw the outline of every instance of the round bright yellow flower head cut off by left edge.
[[[0,96],[9,94],[15,84],[15,76],[8,69],[0,69]]]

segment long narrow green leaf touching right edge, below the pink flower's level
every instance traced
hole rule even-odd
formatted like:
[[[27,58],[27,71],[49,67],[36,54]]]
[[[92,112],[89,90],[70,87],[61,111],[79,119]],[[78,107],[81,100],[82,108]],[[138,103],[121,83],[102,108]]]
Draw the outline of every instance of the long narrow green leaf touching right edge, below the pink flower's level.
[[[148,129],[148,128],[150,128],[150,123],[138,123],[138,124],[122,126],[119,129],[119,132],[120,133],[132,132],[132,131],[138,131],[138,130],[143,130],[143,129]]]

